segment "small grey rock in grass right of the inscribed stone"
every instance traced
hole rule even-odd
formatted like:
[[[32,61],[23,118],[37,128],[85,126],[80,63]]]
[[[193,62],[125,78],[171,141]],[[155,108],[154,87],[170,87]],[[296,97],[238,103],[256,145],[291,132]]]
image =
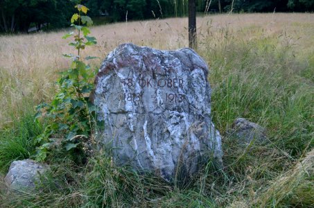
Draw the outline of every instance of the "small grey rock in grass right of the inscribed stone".
[[[253,139],[261,143],[266,139],[265,128],[243,118],[236,119],[232,124],[232,135],[235,136],[241,144],[250,144]]]

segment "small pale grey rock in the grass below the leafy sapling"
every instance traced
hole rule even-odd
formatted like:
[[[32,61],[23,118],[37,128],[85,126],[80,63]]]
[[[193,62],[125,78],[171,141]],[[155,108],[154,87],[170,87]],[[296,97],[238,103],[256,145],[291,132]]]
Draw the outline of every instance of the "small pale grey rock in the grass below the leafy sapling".
[[[48,169],[49,166],[46,164],[40,164],[32,159],[17,160],[10,165],[4,181],[10,190],[32,191],[40,175]]]

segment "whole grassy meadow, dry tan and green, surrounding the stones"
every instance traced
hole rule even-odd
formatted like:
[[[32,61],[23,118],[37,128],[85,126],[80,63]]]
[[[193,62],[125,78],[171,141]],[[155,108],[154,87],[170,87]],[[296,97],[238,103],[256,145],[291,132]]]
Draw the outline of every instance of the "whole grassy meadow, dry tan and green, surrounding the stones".
[[[91,27],[97,56],[125,42],[156,49],[188,45],[187,18]],[[223,135],[223,169],[210,164],[177,188],[158,178],[114,168],[101,153],[86,166],[55,153],[51,178],[38,193],[8,198],[3,207],[311,207],[314,205],[314,14],[266,13],[198,17],[197,52],[209,65],[213,121]],[[49,101],[58,72],[75,53],[62,35],[0,36],[0,170],[30,157],[35,106]],[[229,137],[238,117],[267,129],[265,144],[243,148]],[[58,155],[59,154],[59,155]],[[303,161],[303,162],[302,162]],[[1,182],[0,182],[1,183]]]

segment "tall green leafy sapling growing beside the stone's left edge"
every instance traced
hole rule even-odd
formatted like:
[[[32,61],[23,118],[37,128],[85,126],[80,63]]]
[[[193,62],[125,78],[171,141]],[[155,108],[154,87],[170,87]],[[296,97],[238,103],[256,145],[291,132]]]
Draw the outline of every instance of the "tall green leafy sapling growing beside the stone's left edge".
[[[94,112],[94,105],[88,101],[88,95],[94,87],[90,81],[94,78],[94,71],[84,60],[96,57],[82,58],[81,51],[86,46],[96,44],[96,38],[88,36],[90,33],[88,26],[93,24],[91,18],[86,16],[89,9],[80,3],[75,7],[78,12],[71,17],[71,26],[75,31],[62,38],[73,37],[73,42],[69,45],[78,53],[63,54],[71,60],[71,67],[61,73],[57,81],[59,90],[51,103],[37,106],[37,122],[40,118],[50,121],[44,133],[35,140],[39,145],[35,157],[39,161],[46,159],[47,153],[55,144],[61,144],[62,148],[71,151],[78,148],[81,141],[91,134],[91,113]]]

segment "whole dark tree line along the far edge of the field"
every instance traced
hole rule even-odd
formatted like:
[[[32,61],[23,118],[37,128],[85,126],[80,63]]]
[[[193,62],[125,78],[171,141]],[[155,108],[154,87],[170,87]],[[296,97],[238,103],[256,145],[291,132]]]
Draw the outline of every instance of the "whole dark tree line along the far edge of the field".
[[[0,0],[0,33],[69,26],[76,0]],[[188,0],[83,0],[89,15],[112,21],[183,17]],[[210,5],[209,5],[210,3]],[[233,7],[232,7],[233,5]],[[314,0],[195,0],[197,12],[313,12]],[[127,15],[128,11],[128,15]]]

